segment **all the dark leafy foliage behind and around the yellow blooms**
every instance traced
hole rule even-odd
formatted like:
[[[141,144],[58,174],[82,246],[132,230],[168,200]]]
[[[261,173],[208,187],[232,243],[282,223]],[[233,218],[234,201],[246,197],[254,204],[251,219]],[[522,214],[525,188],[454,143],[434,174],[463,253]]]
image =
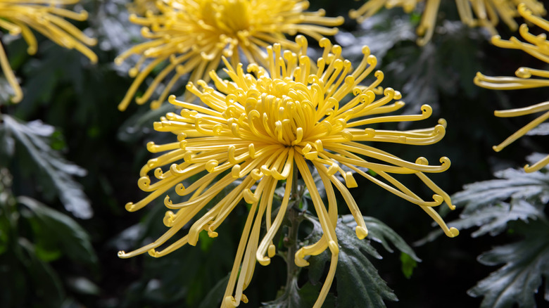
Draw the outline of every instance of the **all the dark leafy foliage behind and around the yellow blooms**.
[[[345,16],[363,1],[311,1],[311,8]],[[89,23],[78,25],[89,27],[89,34],[99,39],[93,48],[99,56],[97,65],[40,35],[39,51],[30,56],[23,39],[0,33],[25,92],[19,105],[9,103],[11,89],[0,74],[0,306],[219,307],[248,214],[244,203],[220,226],[218,238],[201,236],[196,247],[160,259],[116,256],[118,250],[139,248],[166,231],[161,200],[138,213],[126,212],[124,205],[144,197],[136,182],[139,168],[153,156],[145,144],[173,141],[173,136],[153,131],[153,122],[174,109],[168,103],[158,110],[131,103],[125,113],[118,111],[132,82],[127,70],[134,59],[120,67],[113,59],[144,39],[139,26],[127,22],[127,1],[81,4],[89,11]],[[400,125],[415,129],[434,125],[440,117],[448,120],[446,137],[436,145],[372,146],[412,161],[425,156],[434,162],[448,156],[453,166],[433,179],[448,193],[469,183],[453,195],[462,209],[457,211],[459,217],[441,209],[448,224],[462,235],[438,238],[442,232],[438,227],[432,231],[431,219],[417,206],[357,177],[359,188],[351,193],[367,215],[370,234],[365,240],[356,238],[353,218],[339,200],[339,262],[323,307],[543,307],[547,302],[534,293],[549,300],[549,173],[544,169],[526,174],[517,164],[532,148],[547,150],[549,125],[539,125],[500,153],[491,146],[525,124],[493,117],[494,109],[520,107],[515,102],[538,103],[547,92],[502,93],[472,82],[477,71],[512,75],[519,66],[539,63],[525,63],[526,57],[517,56],[518,51],[491,46],[486,32],[456,20],[453,1],[443,1],[432,41],[419,47],[415,36],[419,11],[418,7],[408,15],[400,8],[382,9],[362,25],[346,20],[344,30],[332,40],[343,46],[343,56],[353,67],[362,58],[362,45],[369,45],[378,59],[376,70],[385,75],[381,86],[403,94],[405,113],[417,114],[424,103],[434,108],[427,124]],[[504,38],[517,35],[505,27],[498,30]],[[310,41],[309,46],[318,54],[316,43]],[[227,77],[223,72],[220,76]],[[185,78],[174,94],[182,94]],[[148,82],[150,78],[138,93]],[[315,180],[325,197],[320,177]],[[431,193],[414,177],[402,181],[418,195]],[[307,212],[313,205],[303,198],[298,208]],[[310,257],[310,267],[286,285],[285,228],[275,238],[279,255],[268,267],[256,266],[246,289],[250,303],[241,307],[313,307],[330,254]],[[467,236],[467,229],[472,229],[474,239]],[[423,242],[430,243],[416,250],[424,260],[418,263],[406,241],[429,231]],[[300,232],[303,245],[322,234],[311,217]],[[480,237],[486,234],[497,237]],[[398,251],[381,259],[379,247]],[[475,259],[481,252],[479,262],[487,267]],[[539,290],[543,284],[545,290]],[[469,295],[478,298],[467,296],[469,288]]]

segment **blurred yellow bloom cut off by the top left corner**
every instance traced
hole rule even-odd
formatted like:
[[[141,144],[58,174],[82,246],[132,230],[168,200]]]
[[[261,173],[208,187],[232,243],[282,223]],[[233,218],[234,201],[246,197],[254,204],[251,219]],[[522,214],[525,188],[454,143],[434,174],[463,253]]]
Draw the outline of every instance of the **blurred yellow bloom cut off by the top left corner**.
[[[96,63],[97,56],[86,46],[95,45],[96,39],[87,37],[64,19],[86,20],[87,12],[75,13],[58,7],[76,4],[78,1],[80,0],[0,0],[0,28],[7,30],[11,35],[21,34],[29,45],[27,52],[31,55],[36,53],[38,47],[36,37],[31,31],[34,29],[60,46],[80,51],[92,63]],[[11,70],[1,41],[0,67],[15,92],[12,101],[18,103],[23,98],[23,91]]]

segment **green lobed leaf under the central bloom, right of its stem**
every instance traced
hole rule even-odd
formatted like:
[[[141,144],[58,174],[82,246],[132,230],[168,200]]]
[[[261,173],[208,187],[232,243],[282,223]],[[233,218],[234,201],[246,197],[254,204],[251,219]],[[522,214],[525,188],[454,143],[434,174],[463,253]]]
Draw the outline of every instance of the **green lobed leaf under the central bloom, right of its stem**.
[[[320,222],[312,217],[307,218],[314,226],[310,240],[320,239],[322,236]],[[370,245],[369,239],[381,243],[389,252],[393,251],[389,246],[389,243],[392,243],[396,248],[410,255],[412,259],[419,261],[412,248],[388,226],[377,219],[364,218],[370,231],[365,240],[359,240],[356,237],[354,231],[356,224],[351,215],[343,216],[336,226],[336,236],[340,245],[339,262],[336,269],[338,307],[385,307],[384,300],[398,300],[364,253],[381,259],[381,255]],[[313,284],[320,281],[329,259],[327,251],[308,259],[310,262],[309,278]]]

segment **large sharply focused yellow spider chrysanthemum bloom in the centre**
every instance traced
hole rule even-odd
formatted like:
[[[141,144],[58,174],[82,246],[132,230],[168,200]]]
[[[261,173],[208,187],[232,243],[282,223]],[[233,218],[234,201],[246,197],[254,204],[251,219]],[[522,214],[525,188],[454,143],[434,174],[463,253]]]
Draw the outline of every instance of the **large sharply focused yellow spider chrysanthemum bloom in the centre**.
[[[173,105],[182,108],[179,114],[168,113],[156,122],[157,131],[177,136],[177,141],[163,145],[147,144],[152,153],[164,153],[153,158],[141,169],[139,188],[150,194],[138,203],[128,203],[129,211],[139,210],[152,200],[175,186],[178,195],[190,195],[188,201],[174,204],[169,196],[164,204],[169,209],[164,224],[170,229],[155,242],[134,250],[119,252],[120,257],[133,257],[149,252],[161,257],[189,243],[196,245],[198,234],[207,231],[215,237],[220,224],[244,198],[251,208],[236,252],[234,267],[229,278],[222,307],[236,307],[246,302],[243,292],[250,283],[255,260],[270,263],[275,247],[272,239],[281,226],[291,195],[294,172],[303,179],[324,235],[313,245],[300,248],[295,255],[298,266],[308,265],[305,258],[319,255],[324,250],[332,252],[329,274],[315,307],[320,307],[326,297],[336,270],[339,245],[336,238],[337,204],[334,186],[346,201],[358,224],[358,238],[367,236],[362,214],[348,188],[357,187],[353,175],[360,175],[401,198],[419,205],[447,236],[457,236],[455,228],[448,228],[432,207],[444,201],[453,208],[447,193],[438,188],[426,173],[444,172],[450,167],[448,158],[441,158],[441,165],[429,165],[425,158],[408,162],[363,142],[379,141],[408,145],[428,145],[441,140],[446,132],[445,122],[429,129],[391,131],[374,129],[376,123],[419,121],[431,115],[429,105],[422,106],[421,115],[385,115],[403,107],[398,91],[381,89],[384,78],[381,71],[374,73],[369,86],[359,87],[369,76],[377,58],[370,49],[363,47],[364,58],[358,68],[341,58],[341,47],[332,46],[329,39],[320,39],[324,48],[322,58],[314,60],[306,56],[307,41],[298,36],[297,53],[283,51],[280,44],[267,47],[267,66],[248,65],[245,73],[241,63],[236,66],[223,58],[225,72],[231,81],[221,79],[210,72],[215,87],[206,82],[189,82],[187,90],[198,96],[203,106],[177,101],[170,96]],[[376,94],[377,93],[377,94]],[[350,98],[349,94],[354,97]],[[169,166],[162,169],[163,166]],[[327,206],[323,203],[313,179],[311,169],[317,169],[327,193]],[[353,170],[345,171],[346,170]],[[376,177],[364,172],[368,168]],[[151,181],[152,172],[156,180]],[[336,174],[341,174],[340,180]],[[184,181],[197,174],[203,176],[185,186]],[[415,174],[433,192],[433,200],[423,200],[393,177],[393,174]],[[210,201],[234,181],[241,181],[232,191],[222,196],[215,205]],[[275,188],[286,181],[282,205],[274,219],[271,216]],[[255,190],[252,191],[255,186]],[[207,206],[210,210],[196,219],[186,236],[163,250],[156,250],[186,226],[195,215]],[[260,236],[265,217],[267,228]],[[267,255],[267,256],[266,256]]]

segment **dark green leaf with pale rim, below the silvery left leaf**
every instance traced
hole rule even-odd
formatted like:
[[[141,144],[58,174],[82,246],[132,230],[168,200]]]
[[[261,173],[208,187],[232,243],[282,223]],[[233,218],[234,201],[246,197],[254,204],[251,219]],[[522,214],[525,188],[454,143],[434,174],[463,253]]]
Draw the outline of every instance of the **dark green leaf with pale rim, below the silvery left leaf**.
[[[56,245],[54,248],[59,248],[70,259],[97,265],[97,257],[88,234],[72,218],[32,198],[18,197],[18,202],[32,212],[37,242],[53,242]]]

